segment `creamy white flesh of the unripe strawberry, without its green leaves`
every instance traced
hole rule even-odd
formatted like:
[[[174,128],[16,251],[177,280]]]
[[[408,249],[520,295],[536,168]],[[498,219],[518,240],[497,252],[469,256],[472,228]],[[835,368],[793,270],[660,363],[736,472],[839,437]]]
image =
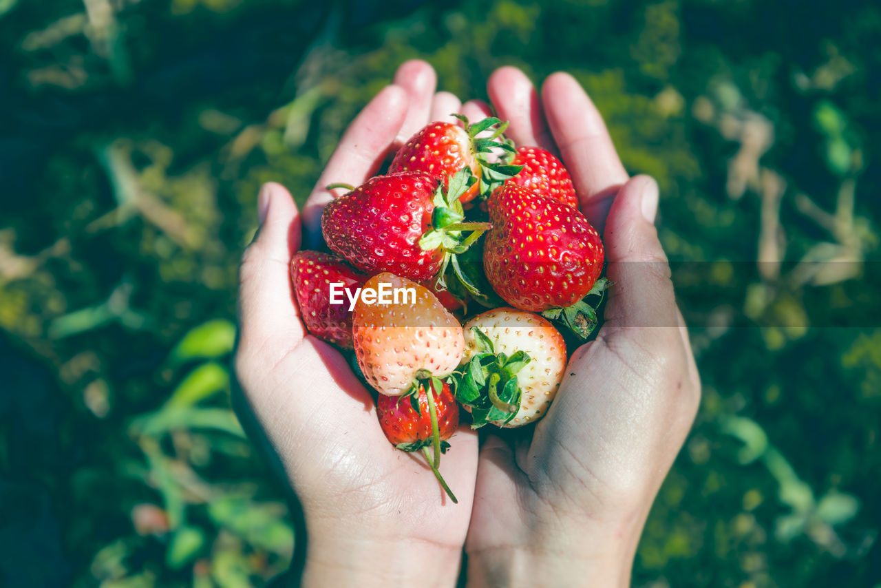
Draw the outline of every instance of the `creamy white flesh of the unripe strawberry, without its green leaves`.
[[[478,339],[473,327],[485,334],[492,350],[485,348],[485,342]],[[521,427],[544,416],[557,395],[566,369],[566,342],[559,331],[542,316],[510,308],[475,316],[465,324],[464,331],[463,363],[473,355],[488,352],[499,354],[503,359],[515,358],[517,352],[529,355],[529,361],[516,371],[521,398],[514,418],[507,424],[504,419],[489,422],[500,427]],[[466,409],[471,408],[463,404]],[[478,423],[477,418],[475,422]]]

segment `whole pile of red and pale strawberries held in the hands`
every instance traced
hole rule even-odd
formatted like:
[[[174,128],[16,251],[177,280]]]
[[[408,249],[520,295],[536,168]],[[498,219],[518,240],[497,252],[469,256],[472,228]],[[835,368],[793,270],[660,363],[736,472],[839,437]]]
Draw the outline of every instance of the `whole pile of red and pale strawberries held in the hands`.
[[[322,234],[336,255],[291,262],[308,330],[354,349],[389,442],[421,450],[454,502],[437,468],[459,406],[474,428],[540,419],[566,339],[589,337],[608,284],[562,162],[516,148],[496,118],[462,120],[419,130],[386,175],[327,205]],[[381,285],[413,295],[380,303]]]

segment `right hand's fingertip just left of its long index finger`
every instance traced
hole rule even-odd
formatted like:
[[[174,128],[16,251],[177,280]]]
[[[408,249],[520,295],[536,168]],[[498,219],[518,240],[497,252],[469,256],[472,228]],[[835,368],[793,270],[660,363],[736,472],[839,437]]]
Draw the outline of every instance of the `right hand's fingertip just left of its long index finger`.
[[[486,91],[499,118],[510,123],[505,134],[516,145],[555,151],[541,100],[526,74],[515,67],[502,67],[492,72]]]

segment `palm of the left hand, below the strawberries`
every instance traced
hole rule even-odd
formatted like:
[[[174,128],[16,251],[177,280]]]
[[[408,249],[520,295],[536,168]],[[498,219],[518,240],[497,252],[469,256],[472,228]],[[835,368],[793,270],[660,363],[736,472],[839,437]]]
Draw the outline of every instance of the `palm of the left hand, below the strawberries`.
[[[303,419],[301,401],[285,406],[295,423],[296,462],[289,473],[307,511],[361,518],[377,529],[393,522],[406,537],[459,547],[470,517],[477,473],[477,437],[460,430],[441,460],[441,472],[459,499],[444,495],[420,453],[396,450],[376,419],[374,399],[343,356],[312,336],[275,368],[292,389],[322,391]]]

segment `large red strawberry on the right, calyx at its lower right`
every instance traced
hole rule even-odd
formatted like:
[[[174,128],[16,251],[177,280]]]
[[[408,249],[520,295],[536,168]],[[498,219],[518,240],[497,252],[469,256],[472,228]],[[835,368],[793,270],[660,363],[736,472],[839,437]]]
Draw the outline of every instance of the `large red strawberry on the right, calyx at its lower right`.
[[[572,206],[515,184],[495,190],[488,206],[484,271],[492,288],[511,306],[545,311],[586,339],[596,312],[582,299],[606,285],[597,280],[604,253],[596,229]]]

